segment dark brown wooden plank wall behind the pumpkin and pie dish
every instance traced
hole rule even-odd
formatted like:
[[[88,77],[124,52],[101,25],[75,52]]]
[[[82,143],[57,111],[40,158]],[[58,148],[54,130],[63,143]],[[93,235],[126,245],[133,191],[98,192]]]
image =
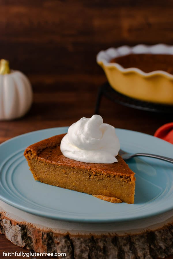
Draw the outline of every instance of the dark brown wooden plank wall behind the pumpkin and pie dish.
[[[173,43],[173,1],[0,0],[0,57],[30,74],[103,75],[101,49]]]

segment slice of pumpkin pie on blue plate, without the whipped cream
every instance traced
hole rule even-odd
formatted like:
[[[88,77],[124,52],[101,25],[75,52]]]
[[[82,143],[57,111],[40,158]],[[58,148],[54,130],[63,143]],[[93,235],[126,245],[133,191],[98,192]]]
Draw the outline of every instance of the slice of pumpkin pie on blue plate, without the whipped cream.
[[[134,203],[134,172],[120,155],[112,164],[69,159],[60,150],[64,136],[53,136],[26,148],[24,155],[35,180],[111,202]]]

